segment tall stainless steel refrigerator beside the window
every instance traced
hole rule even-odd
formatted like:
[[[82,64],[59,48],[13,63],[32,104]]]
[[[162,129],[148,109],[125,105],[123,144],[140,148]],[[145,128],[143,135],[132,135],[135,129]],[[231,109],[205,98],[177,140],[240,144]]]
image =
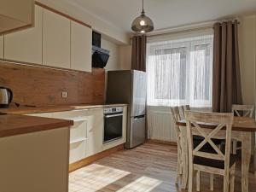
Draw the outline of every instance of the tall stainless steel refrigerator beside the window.
[[[135,148],[146,136],[146,73],[137,70],[108,71],[107,103],[128,103],[127,142]]]

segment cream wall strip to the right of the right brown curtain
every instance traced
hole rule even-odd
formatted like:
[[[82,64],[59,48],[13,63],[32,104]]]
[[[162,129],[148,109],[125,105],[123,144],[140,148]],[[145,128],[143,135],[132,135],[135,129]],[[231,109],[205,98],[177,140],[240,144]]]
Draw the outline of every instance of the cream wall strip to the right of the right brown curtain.
[[[255,102],[256,15],[240,18],[239,52],[241,65],[241,91],[244,104]]]

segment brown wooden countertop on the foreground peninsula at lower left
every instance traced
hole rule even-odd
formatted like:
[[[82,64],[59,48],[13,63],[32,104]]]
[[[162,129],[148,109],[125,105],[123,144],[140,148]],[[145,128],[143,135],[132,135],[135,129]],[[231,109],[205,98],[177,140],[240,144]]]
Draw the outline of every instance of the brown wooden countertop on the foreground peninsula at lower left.
[[[73,125],[72,120],[49,119],[26,115],[0,115],[0,137],[46,131]]]

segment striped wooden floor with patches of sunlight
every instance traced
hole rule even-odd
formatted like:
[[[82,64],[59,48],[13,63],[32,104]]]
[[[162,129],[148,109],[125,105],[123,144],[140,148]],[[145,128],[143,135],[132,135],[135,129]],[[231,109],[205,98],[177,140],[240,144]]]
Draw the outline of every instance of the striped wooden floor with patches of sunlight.
[[[177,147],[146,143],[111,154],[96,163],[70,173],[69,192],[177,192],[175,185]],[[241,191],[240,166],[236,172],[236,192]],[[249,192],[256,192],[253,173]],[[216,176],[214,191],[223,191],[223,177]],[[201,191],[208,192],[209,177],[201,176]]]

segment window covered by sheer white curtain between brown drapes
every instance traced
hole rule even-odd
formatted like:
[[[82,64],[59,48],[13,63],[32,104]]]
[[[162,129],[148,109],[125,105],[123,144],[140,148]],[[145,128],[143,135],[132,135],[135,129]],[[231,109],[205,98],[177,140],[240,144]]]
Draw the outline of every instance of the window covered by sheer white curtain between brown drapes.
[[[148,43],[148,105],[212,107],[213,35]]]

